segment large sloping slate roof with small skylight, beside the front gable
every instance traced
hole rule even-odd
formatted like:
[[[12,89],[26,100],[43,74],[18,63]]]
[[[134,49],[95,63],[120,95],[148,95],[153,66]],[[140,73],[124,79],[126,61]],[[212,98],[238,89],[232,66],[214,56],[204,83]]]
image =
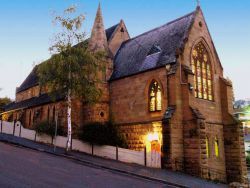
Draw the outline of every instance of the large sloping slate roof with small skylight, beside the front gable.
[[[111,81],[175,63],[176,51],[183,47],[195,14],[196,11],[125,41],[115,56]],[[161,51],[148,55],[154,45]]]

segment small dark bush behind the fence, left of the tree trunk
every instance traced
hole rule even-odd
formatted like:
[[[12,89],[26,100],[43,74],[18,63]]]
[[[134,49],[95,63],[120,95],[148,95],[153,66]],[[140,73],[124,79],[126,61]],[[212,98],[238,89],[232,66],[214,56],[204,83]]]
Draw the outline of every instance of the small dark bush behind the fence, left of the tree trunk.
[[[35,124],[34,130],[37,132],[38,135],[46,134],[53,138],[55,136],[55,130],[56,130],[55,128],[56,128],[55,122],[43,121]],[[60,125],[58,125],[57,127],[57,135],[60,136],[65,135],[63,127]]]

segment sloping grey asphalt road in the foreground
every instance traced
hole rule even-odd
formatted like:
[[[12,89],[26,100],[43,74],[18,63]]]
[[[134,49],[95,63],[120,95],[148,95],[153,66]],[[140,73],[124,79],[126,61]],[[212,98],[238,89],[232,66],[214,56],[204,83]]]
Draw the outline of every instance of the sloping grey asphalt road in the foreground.
[[[158,182],[85,166],[0,142],[0,188],[170,188]]]

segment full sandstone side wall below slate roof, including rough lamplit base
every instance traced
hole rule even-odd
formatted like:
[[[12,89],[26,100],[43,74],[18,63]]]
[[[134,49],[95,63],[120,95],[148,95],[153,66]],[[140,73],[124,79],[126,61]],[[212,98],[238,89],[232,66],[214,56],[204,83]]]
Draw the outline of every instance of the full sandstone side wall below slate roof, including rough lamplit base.
[[[111,119],[119,126],[130,149],[142,150],[149,133],[158,132],[162,137],[161,120],[167,108],[166,73],[161,68],[110,83]],[[153,80],[162,88],[160,112],[149,111],[149,87]]]

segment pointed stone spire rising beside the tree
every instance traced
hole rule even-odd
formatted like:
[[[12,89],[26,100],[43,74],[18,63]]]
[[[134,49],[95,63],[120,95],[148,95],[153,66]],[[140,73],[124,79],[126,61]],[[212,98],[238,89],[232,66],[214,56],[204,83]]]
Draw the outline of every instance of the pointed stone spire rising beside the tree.
[[[108,42],[107,42],[106,32],[104,29],[100,3],[96,13],[95,23],[92,28],[91,37],[89,40],[89,49],[95,52],[106,51],[108,49]]]

